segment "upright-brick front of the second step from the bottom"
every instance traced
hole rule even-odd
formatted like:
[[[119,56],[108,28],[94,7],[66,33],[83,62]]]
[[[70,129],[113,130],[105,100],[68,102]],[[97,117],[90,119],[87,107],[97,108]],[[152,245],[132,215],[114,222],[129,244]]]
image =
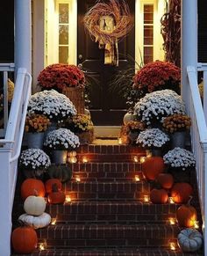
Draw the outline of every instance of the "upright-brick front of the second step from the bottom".
[[[168,239],[177,238],[177,235],[180,232],[180,228],[177,225],[169,225],[169,224],[140,224],[140,225],[138,224],[136,225],[57,224],[55,226],[49,225],[45,229],[37,230],[37,232],[38,232],[39,238],[52,239],[52,240],[60,239],[60,241],[65,239],[65,240],[68,240],[68,243],[72,239],[81,240],[82,243],[83,241],[86,241],[86,240],[90,241],[91,239],[94,239],[94,240],[98,239],[100,242],[100,243],[98,242],[98,245],[104,246],[104,243],[106,242],[106,240],[110,244],[111,239],[108,239],[108,238],[113,238],[116,240],[126,240],[128,238],[132,238],[132,240],[134,239],[134,241],[137,238],[140,238],[139,243],[145,243],[146,245],[146,239],[168,240]],[[136,245],[138,245],[138,242]],[[149,244],[149,245],[153,245],[153,244]],[[162,243],[160,245],[164,245],[164,244]]]

